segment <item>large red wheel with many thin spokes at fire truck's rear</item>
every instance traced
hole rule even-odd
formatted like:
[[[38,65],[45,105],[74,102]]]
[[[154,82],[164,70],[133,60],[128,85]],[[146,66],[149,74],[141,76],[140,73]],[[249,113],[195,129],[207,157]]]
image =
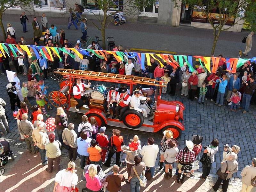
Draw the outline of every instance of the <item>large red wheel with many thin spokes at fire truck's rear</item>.
[[[66,95],[59,91],[52,91],[49,93],[48,99],[54,107],[66,107],[68,99]]]

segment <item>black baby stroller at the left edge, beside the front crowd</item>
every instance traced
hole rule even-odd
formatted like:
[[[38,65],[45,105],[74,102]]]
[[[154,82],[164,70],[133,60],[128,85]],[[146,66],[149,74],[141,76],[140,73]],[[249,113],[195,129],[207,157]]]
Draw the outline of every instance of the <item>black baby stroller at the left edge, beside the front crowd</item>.
[[[12,161],[14,160],[10,144],[6,140],[0,140],[0,175],[3,175],[5,172],[3,166],[7,164],[9,157],[12,158]]]

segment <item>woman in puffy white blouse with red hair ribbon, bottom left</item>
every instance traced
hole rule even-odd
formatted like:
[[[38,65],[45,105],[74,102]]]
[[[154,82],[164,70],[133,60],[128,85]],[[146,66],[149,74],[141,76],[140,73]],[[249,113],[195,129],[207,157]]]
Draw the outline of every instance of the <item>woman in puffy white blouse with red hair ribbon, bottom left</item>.
[[[56,174],[53,192],[69,192],[72,187],[75,188],[78,181],[75,168],[76,164],[73,161],[69,161],[68,168]]]

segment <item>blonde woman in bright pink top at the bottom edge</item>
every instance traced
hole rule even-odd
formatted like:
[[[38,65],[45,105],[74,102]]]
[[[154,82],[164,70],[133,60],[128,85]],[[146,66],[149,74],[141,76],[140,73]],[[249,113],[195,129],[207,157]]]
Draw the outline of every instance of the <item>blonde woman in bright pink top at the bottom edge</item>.
[[[90,166],[88,171],[85,172],[86,179],[86,188],[91,191],[100,192],[102,185],[100,183],[100,179],[97,176],[97,168],[96,166]]]

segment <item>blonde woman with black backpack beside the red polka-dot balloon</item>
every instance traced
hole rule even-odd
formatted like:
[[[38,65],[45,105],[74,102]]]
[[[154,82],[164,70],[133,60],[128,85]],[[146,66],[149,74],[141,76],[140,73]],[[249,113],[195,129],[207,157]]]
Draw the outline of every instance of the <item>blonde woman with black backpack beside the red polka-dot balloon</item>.
[[[68,116],[62,107],[57,108],[54,124],[56,125],[56,131],[59,137],[59,141],[62,146],[65,146],[62,140],[62,132],[63,129],[68,127]]]

